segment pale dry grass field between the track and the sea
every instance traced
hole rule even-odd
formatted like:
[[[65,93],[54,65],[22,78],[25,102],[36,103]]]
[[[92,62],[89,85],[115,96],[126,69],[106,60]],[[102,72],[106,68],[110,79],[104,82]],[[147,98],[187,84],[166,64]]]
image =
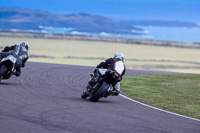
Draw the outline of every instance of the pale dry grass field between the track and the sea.
[[[24,33],[9,33],[9,36],[4,36],[1,33],[0,49],[6,45],[27,41],[30,44],[29,61],[86,66],[96,66],[100,61],[120,51],[124,53],[125,64],[129,69],[200,73],[198,45],[151,40],[101,41],[87,37],[56,36],[46,38],[27,36]]]

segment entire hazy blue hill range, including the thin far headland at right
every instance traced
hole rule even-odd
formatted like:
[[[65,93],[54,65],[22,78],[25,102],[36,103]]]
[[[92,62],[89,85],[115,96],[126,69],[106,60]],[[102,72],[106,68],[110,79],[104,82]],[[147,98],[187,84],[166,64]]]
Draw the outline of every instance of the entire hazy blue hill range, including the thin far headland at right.
[[[4,7],[0,8],[0,30],[47,32],[52,27],[62,28],[64,33],[86,32],[92,34],[145,35],[137,26],[199,27],[192,22],[156,20],[114,20],[87,13],[54,14],[39,10]]]

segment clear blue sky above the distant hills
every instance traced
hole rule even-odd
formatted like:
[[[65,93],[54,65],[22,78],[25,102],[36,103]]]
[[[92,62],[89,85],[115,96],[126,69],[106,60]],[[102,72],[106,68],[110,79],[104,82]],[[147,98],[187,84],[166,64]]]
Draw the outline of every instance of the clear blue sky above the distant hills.
[[[20,7],[58,14],[89,13],[133,20],[177,20],[200,24],[200,0],[0,0],[0,7]]]

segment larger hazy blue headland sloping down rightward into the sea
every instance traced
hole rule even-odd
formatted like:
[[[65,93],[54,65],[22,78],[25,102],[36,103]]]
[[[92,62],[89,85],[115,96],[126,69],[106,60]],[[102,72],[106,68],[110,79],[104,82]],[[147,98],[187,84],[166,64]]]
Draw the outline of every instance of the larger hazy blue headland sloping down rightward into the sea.
[[[22,8],[0,8],[1,30],[42,30],[44,27],[65,27],[71,32],[139,34],[131,30],[142,31],[131,24],[124,24],[113,19],[81,14],[53,14]]]

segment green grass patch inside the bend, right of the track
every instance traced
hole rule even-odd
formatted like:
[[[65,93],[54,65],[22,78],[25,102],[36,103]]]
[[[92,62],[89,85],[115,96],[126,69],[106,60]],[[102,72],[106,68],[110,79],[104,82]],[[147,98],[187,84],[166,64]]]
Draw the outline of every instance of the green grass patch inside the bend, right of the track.
[[[140,102],[200,119],[200,75],[151,74],[125,77],[121,93]]]

